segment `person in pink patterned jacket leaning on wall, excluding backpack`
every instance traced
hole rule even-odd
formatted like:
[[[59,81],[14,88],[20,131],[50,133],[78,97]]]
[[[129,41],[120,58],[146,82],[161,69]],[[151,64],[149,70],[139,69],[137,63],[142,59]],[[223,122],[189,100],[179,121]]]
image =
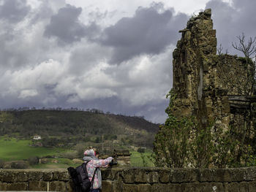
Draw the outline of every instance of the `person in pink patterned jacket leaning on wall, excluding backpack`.
[[[102,174],[97,167],[108,167],[108,164],[113,160],[112,157],[106,159],[99,159],[99,152],[96,149],[86,150],[84,152],[83,161],[86,164],[86,170],[88,172],[89,180],[92,180],[92,177],[95,173],[93,188],[91,188],[91,192],[99,192],[102,188]]]

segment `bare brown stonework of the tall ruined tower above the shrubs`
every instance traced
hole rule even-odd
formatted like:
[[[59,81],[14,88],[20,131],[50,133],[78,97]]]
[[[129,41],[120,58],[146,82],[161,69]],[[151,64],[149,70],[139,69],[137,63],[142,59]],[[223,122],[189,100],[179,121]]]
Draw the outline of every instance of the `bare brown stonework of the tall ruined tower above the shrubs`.
[[[243,125],[242,116],[230,110],[229,96],[249,94],[249,69],[237,56],[217,55],[211,9],[189,19],[179,32],[182,37],[173,51],[174,115],[195,115],[202,127],[212,122],[222,128]]]

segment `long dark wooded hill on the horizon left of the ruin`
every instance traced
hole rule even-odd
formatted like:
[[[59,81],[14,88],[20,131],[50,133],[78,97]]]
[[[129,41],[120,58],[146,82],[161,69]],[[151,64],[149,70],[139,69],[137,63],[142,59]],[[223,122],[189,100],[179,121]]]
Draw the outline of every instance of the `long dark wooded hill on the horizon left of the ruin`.
[[[0,135],[119,139],[127,145],[149,146],[159,125],[141,117],[99,111],[12,110],[0,112]],[[90,139],[90,138],[89,138]],[[88,140],[88,139],[87,139]]]

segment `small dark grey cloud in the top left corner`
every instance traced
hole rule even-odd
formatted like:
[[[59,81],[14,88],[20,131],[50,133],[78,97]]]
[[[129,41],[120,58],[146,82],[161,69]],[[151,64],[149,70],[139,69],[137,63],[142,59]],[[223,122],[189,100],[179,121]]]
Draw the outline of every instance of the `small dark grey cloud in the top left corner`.
[[[20,22],[30,10],[26,0],[2,0],[0,3],[0,18],[10,23]]]

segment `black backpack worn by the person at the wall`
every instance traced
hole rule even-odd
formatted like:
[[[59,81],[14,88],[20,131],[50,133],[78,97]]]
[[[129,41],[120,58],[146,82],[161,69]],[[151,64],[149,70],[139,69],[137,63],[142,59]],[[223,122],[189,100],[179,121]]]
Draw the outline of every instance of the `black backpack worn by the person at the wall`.
[[[91,188],[93,188],[94,176],[98,168],[95,169],[94,176],[92,177],[92,180],[90,182],[88,173],[86,170],[86,164],[83,163],[76,168],[71,166],[67,168],[72,178],[72,181],[75,185],[75,192],[89,192]]]

